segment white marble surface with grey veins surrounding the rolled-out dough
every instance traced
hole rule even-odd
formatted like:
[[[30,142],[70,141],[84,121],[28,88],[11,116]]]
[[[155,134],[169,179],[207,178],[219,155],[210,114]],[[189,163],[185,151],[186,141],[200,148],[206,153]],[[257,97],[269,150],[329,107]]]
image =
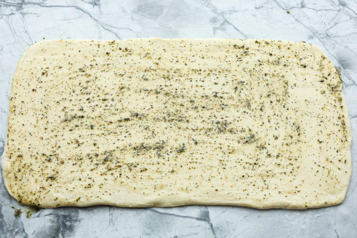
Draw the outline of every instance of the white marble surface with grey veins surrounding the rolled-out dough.
[[[10,206],[21,206],[0,178],[0,237],[357,237],[356,0],[0,0],[0,155],[17,62],[44,37],[266,38],[320,46],[342,71],[353,133],[352,179],[341,205],[305,211],[94,206],[15,218]]]

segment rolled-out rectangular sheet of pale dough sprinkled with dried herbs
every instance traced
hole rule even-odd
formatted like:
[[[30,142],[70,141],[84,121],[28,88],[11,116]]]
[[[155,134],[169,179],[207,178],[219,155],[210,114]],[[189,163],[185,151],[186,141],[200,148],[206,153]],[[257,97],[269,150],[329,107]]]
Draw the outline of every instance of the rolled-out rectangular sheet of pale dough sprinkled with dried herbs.
[[[339,204],[342,83],[303,42],[52,40],[12,82],[3,177],[38,207]]]

